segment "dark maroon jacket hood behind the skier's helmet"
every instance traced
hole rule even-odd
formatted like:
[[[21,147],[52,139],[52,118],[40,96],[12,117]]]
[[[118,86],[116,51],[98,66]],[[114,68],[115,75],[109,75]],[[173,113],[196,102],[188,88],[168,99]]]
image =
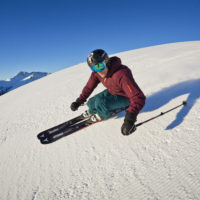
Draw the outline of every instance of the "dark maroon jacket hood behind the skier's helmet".
[[[121,67],[122,63],[121,63],[121,59],[117,56],[111,57],[108,61],[108,73],[106,75],[106,77],[111,77],[113,75],[113,73],[115,73],[116,71],[119,70],[119,68]]]

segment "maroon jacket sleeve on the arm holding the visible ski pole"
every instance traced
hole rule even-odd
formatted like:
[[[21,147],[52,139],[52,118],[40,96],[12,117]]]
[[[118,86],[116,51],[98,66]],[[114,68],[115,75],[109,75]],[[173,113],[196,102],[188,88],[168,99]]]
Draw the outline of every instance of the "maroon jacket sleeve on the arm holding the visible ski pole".
[[[138,115],[145,104],[146,97],[133,79],[131,71],[121,74],[119,84],[130,102],[127,112],[132,112]]]

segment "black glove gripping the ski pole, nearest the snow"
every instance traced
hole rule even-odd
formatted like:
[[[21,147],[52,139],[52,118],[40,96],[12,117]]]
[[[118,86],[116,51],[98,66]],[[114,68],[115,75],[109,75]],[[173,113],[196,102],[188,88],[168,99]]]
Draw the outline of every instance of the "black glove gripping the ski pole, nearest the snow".
[[[135,126],[136,114],[132,112],[127,112],[124,118],[124,123],[121,127],[121,132],[123,135],[130,135],[136,130]]]

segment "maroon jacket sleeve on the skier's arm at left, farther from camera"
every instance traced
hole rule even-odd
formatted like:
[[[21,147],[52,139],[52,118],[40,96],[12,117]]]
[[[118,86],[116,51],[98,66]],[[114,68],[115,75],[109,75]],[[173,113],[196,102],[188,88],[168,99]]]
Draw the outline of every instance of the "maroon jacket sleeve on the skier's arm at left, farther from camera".
[[[90,96],[90,94],[93,92],[93,90],[97,87],[99,84],[99,79],[95,76],[94,72],[91,74],[87,84],[82,90],[82,93],[80,94],[80,100],[82,102],[85,102],[87,98]]]

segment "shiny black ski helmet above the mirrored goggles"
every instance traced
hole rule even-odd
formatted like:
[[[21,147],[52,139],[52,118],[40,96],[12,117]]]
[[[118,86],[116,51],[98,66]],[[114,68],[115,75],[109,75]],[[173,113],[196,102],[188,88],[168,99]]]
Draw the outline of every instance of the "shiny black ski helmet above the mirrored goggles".
[[[99,62],[105,62],[107,64],[108,60],[108,54],[103,49],[96,49],[89,54],[87,63],[91,67]]]

